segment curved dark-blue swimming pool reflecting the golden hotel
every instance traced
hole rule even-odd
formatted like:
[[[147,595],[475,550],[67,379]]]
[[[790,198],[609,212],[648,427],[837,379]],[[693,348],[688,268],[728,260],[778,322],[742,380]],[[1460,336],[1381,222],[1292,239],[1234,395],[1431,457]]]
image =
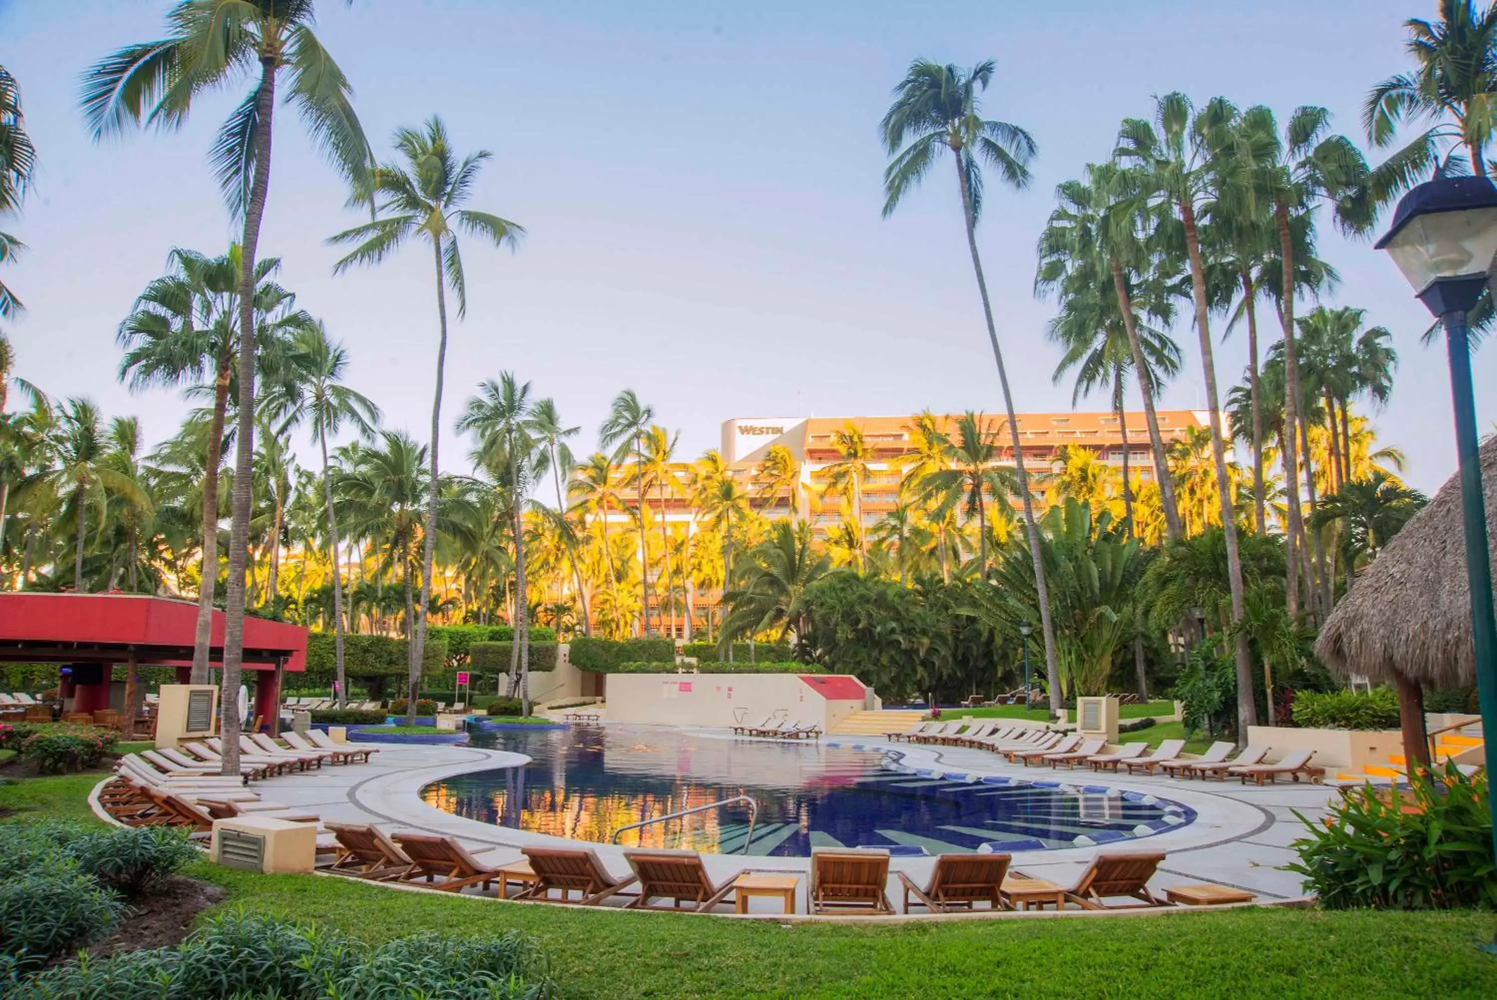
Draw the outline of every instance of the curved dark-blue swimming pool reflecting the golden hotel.
[[[531,762],[443,778],[422,789],[427,804],[597,843],[609,843],[620,826],[734,795],[750,795],[759,807],[747,850],[746,805],[630,831],[620,840],[624,846],[778,856],[838,846],[933,855],[1043,850],[1135,840],[1195,819],[1177,802],[1079,777],[946,778],[904,766],[897,756],[814,743],[621,725],[540,732],[481,725],[473,743]]]

